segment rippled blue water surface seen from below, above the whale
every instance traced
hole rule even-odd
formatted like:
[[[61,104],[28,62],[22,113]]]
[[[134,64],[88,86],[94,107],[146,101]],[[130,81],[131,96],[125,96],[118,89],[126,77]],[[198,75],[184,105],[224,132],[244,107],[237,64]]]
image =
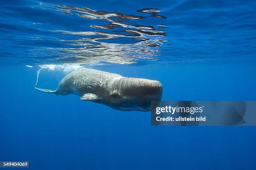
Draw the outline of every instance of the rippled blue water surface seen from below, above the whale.
[[[8,1],[1,62],[254,61],[255,1]]]

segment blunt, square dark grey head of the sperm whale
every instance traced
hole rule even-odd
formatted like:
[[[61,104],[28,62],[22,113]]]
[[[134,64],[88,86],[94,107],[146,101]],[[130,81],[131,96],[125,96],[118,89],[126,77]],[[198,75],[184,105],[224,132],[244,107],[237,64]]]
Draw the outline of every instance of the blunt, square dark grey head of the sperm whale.
[[[163,87],[159,81],[122,77],[115,84],[108,98],[110,105],[118,110],[150,111],[152,101],[160,101]]]

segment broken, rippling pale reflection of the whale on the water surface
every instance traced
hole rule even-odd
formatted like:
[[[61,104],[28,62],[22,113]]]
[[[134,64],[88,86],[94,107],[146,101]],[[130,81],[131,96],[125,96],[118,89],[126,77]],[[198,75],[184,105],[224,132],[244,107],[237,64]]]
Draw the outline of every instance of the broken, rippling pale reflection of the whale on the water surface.
[[[43,5],[40,7],[43,8]],[[85,26],[84,30],[79,31],[46,30],[53,33],[56,41],[61,42],[64,47],[32,49],[33,55],[46,55],[47,51],[48,55],[54,56],[51,60],[49,57],[44,57],[45,60],[41,60],[44,63],[132,64],[140,60],[157,60],[157,56],[160,55],[159,47],[166,42],[166,32],[164,32],[166,25],[156,23],[153,26],[146,26],[138,25],[138,22],[135,22],[142,19],[151,20],[151,18],[156,18],[157,22],[165,19],[166,17],[159,15],[161,12],[159,9],[137,10],[138,14],[146,16],[125,15],[118,12],[108,13],[67,5],[52,5],[52,9],[66,16],[69,15],[69,18],[82,18]],[[67,22],[69,21],[67,20]],[[87,25],[88,23],[90,25]],[[96,25],[94,23],[104,24]],[[37,40],[37,37],[34,39]]]

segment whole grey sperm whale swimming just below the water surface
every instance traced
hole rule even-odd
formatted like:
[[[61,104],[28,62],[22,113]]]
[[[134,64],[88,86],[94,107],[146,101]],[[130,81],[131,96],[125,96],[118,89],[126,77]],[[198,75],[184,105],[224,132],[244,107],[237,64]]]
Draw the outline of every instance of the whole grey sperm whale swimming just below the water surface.
[[[56,95],[79,95],[81,100],[101,103],[117,110],[149,111],[151,101],[160,101],[162,97],[159,81],[122,77],[83,67],[66,75],[57,90],[36,89]]]

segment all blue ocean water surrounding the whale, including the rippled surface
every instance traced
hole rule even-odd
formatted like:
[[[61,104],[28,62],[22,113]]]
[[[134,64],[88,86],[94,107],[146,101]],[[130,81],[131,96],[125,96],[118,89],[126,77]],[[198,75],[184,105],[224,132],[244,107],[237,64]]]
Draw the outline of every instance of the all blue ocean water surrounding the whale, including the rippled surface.
[[[0,161],[256,169],[255,127],[154,127],[150,112],[34,89],[56,89],[82,65],[159,80],[162,100],[256,100],[255,1],[11,0],[0,10]]]

